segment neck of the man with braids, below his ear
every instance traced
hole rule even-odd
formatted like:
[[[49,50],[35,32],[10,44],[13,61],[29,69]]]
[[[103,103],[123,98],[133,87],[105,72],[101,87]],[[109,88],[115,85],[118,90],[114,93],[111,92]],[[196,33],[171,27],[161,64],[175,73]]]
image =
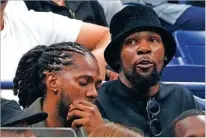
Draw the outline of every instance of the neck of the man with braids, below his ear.
[[[51,100],[49,100],[51,99]],[[48,114],[46,119],[46,126],[47,127],[63,127],[63,123],[58,115],[57,102],[54,100],[54,97],[46,98],[43,102],[43,111]]]

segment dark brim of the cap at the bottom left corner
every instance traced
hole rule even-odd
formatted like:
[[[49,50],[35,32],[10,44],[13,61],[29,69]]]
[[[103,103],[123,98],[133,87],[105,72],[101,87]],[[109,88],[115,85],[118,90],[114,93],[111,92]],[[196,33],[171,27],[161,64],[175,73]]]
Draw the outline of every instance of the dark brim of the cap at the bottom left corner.
[[[15,114],[9,119],[7,119],[6,121],[2,122],[1,126],[2,127],[9,126],[11,124],[22,122],[22,121],[26,122],[28,125],[31,125],[31,124],[36,124],[40,121],[43,121],[47,117],[48,117],[48,114],[45,112],[34,113],[34,111],[30,111],[29,108],[26,108],[22,110],[22,112]]]

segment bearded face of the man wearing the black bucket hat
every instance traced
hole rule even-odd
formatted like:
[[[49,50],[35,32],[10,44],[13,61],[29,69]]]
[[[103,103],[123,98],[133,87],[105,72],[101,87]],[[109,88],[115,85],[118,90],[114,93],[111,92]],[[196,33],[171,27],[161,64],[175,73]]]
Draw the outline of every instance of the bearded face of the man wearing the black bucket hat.
[[[122,71],[134,88],[157,84],[164,65],[161,36],[150,31],[131,34],[123,41],[120,58]]]

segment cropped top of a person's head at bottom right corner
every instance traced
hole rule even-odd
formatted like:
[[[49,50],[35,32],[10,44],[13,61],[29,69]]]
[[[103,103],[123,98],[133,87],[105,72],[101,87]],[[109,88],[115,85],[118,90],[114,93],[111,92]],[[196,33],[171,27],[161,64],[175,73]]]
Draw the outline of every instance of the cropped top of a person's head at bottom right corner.
[[[177,137],[205,137],[205,116],[190,116],[175,124]]]

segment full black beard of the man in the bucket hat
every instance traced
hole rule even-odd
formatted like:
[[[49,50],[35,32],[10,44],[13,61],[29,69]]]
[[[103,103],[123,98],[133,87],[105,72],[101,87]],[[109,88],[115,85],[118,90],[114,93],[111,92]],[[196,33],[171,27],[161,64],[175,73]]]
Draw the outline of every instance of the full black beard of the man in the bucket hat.
[[[138,91],[140,95],[147,94],[151,86],[156,85],[160,81],[160,73],[157,71],[156,64],[150,74],[141,75],[136,71],[135,65],[133,66],[132,72],[126,72],[123,69],[125,77],[130,81],[133,88]]]

